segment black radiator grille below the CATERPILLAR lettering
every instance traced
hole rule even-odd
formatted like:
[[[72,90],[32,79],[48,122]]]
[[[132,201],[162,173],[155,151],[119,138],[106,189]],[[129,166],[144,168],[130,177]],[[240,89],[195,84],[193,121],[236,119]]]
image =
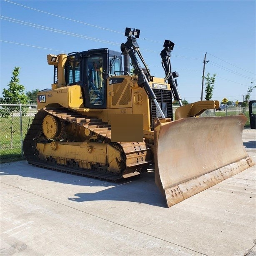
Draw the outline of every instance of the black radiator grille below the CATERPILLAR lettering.
[[[173,106],[172,106],[172,95],[171,90],[161,90],[161,89],[153,89],[156,100],[160,105],[165,117],[171,118],[173,121]],[[156,108],[156,104],[153,100],[150,100],[150,111],[151,111],[151,130],[154,130],[153,120],[156,117],[160,117],[161,115]]]

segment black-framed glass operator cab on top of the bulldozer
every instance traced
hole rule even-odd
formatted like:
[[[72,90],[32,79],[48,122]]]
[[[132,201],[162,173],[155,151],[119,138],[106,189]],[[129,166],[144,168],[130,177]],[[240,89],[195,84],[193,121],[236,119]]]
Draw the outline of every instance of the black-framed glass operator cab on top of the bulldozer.
[[[67,85],[80,85],[85,108],[106,108],[109,76],[123,75],[121,53],[108,48],[69,53],[65,63]]]

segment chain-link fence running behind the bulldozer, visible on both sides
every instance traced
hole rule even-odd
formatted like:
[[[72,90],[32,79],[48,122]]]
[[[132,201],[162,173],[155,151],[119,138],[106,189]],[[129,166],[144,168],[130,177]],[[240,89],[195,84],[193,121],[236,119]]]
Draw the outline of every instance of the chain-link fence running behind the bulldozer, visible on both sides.
[[[176,107],[173,108],[175,116]],[[37,105],[0,104],[0,112],[8,113],[0,117],[0,163],[24,159],[23,140],[37,113]],[[224,116],[244,114],[248,118],[246,127],[250,127],[248,108],[226,108],[217,111],[206,110],[201,116]]]

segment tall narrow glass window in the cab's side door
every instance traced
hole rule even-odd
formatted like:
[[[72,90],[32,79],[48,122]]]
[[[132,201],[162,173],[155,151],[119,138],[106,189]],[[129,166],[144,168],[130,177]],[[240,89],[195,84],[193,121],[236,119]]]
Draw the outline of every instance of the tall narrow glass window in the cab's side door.
[[[90,104],[103,105],[105,91],[103,57],[97,56],[88,58],[87,72]]]

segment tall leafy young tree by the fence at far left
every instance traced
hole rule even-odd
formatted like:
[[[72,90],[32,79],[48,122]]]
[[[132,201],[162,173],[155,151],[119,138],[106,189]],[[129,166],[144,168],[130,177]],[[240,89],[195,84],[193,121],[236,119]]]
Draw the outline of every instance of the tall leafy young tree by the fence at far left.
[[[18,75],[20,74],[20,67],[15,67],[13,76],[8,84],[8,89],[3,89],[3,97],[0,98],[0,103],[4,104],[28,104],[28,96],[25,95],[25,87],[19,83]],[[8,117],[13,115],[13,112],[19,111],[20,106],[3,106],[0,110],[1,117]],[[22,115],[25,115],[28,107],[22,106]]]

